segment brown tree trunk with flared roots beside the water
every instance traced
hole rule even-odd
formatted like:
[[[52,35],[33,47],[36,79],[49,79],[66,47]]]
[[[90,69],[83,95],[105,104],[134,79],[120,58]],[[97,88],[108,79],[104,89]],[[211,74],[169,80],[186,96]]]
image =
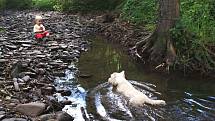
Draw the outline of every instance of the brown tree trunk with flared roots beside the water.
[[[170,37],[170,29],[179,18],[179,0],[159,0],[159,20],[155,31],[133,48],[140,58],[150,62],[171,65],[176,52]]]

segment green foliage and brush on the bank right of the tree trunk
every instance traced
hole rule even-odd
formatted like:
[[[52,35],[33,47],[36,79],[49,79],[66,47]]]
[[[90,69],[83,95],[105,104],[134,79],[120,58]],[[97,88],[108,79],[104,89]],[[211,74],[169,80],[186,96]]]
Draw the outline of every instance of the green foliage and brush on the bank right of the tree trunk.
[[[177,64],[210,71],[215,67],[215,5],[213,0],[181,0],[181,19],[172,29]]]

